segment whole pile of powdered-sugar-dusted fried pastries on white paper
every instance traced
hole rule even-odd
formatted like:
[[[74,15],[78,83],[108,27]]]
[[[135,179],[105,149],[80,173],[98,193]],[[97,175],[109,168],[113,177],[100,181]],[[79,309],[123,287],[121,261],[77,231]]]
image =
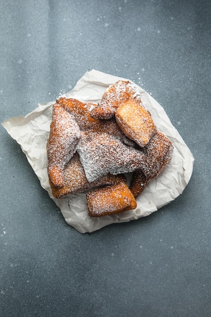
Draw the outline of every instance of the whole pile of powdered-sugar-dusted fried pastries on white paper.
[[[173,149],[131,81],[109,86],[99,104],[61,97],[47,142],[52,193],[61,199],[86,192],[91,217],[135,209],[136,197],[170,162]],[[126,173],[132,173],[130,185]]]

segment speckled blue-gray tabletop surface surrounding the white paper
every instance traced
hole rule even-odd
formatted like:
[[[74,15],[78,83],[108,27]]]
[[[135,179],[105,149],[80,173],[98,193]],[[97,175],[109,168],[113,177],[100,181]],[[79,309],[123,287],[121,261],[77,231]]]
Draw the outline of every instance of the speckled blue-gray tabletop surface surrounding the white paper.
[[[1,126],[1,316],[210,316],[207,1],[0,1],[1,122],[93,68],[163,106],[195,157],[170,205],[92,234],[68,226]]]

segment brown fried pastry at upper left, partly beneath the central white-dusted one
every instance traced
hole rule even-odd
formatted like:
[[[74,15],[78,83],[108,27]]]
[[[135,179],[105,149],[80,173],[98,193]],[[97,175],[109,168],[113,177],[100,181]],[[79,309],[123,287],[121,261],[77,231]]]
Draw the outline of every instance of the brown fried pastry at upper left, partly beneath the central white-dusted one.
[[[121,131],[115,118],[101,120],[91,117],[90,112],[97,104],[93,102],[83,103],[74,98],[64,97],[57,99],[57,103],[74,115],[81,131],[106,132],[119,138],[126,145],[134,146],[134,142]]]

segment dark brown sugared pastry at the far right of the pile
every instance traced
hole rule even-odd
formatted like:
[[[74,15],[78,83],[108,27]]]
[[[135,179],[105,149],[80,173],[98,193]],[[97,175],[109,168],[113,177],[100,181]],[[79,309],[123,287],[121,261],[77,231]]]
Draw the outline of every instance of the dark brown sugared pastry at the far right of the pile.
[[[157,175],[171,161],[173,150],[174,146],[170,139],[163,133],[157,131],[149,143],[144,147],[150,173],[146,175],[142,170],[137,170],[133,175],[130,189],[135,197],[140,195],[146,185],[157,177]]]

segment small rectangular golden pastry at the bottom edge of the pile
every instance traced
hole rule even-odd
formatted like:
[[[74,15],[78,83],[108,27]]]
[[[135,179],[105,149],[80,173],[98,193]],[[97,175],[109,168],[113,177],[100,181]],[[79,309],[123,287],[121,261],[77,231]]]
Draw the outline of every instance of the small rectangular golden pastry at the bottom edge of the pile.
[[[124,182],[90,191],[87,204],[91,217],[112,215],[137,207],[132,192]]]

